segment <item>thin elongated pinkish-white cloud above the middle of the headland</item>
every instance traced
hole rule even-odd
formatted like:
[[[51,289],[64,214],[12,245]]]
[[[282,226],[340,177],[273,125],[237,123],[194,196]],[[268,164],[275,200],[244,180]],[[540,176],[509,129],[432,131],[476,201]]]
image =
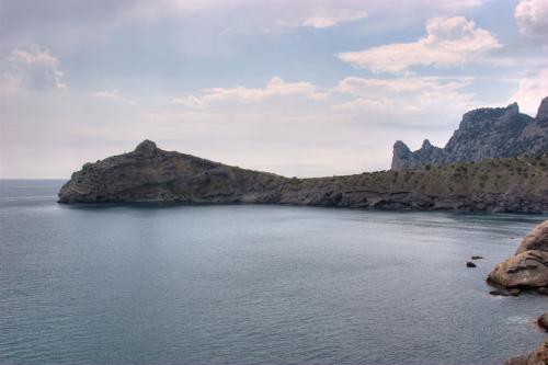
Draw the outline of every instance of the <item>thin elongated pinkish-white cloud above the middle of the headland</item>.
[[[172,104],[190,107],[205,107],[215,102],[254,103],[273,98],[304,96],[311,100],[321,100],[327,96],[324,91],[310,82],[285,82],[279,77],[273,77],[264,88],[209,88],[202,89],[199,96],[186,95],[172,99]]]

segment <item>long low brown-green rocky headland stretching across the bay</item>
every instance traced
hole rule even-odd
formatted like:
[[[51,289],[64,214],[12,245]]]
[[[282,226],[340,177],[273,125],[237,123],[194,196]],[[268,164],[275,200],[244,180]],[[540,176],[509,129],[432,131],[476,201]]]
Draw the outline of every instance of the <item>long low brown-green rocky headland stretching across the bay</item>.
[[[385,209],[548,212],[548,156],[289,179],[159,149],[85,163],[59,203],[270,203]]]

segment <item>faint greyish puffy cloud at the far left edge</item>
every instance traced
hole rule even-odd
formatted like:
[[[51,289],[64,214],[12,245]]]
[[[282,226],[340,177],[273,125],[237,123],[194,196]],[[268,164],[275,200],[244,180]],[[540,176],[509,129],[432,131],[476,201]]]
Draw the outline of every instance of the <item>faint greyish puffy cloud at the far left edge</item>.
[[[59,69],[59,59],[49,49],[32,45],[27,50],[13,49],[8,57],[8,72],[2,77],[4,91],[20,89],[48,90],[62,89],[64,73]]]

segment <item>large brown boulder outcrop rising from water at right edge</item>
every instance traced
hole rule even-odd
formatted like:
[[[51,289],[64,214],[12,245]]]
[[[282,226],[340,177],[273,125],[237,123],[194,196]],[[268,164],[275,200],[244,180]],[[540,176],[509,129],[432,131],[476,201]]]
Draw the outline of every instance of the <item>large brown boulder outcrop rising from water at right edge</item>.
[[[548,287],[548,220],[534,228],[512,258],[498,264],[488,282],[505,288],[532,289]]]

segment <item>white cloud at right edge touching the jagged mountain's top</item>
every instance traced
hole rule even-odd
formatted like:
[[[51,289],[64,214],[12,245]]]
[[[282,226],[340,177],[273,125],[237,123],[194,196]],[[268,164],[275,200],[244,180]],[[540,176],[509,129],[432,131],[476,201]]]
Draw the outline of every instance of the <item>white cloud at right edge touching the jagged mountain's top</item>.
[[[540,101],[548,96],[548,68],[529,72],[520,80],[517,91],[509,103],[517,102],[522,112],[536,115]]]

